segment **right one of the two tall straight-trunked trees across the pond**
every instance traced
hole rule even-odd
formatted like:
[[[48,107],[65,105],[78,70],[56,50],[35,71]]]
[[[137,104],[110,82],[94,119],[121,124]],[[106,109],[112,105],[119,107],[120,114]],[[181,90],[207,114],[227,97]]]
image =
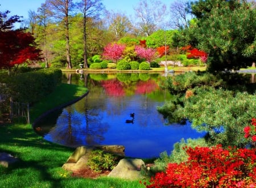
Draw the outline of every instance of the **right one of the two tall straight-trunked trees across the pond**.
[[[83,34],[84,34],[84,67],[88,68],[87,62],[87,33],[86,33],[86,20],[87,19],[98,19],[101,15],[101,12],[105,9],[104,5],[101,2],[102,0],[82,0],[77,3],[77,7],[82,11],[84,16],[83,24]]]

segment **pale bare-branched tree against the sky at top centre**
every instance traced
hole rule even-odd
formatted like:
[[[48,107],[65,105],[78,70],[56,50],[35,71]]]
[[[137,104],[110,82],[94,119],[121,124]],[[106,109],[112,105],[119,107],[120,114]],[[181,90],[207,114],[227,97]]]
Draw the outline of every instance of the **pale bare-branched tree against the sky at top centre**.
[[[161,1],[141,0],[134,10],[143,35],[150,36],[164,23],[166,5]]]

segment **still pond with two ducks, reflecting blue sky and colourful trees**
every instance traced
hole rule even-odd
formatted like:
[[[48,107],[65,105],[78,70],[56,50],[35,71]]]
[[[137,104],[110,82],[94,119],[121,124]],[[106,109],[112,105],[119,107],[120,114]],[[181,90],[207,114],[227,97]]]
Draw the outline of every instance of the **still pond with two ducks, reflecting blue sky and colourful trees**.
[[[161,74],[64,74],[63,82],[88,87],[80,101],[56,110],[36,123],[44,139],[68,147],[123,145],[129,157],[159,157],[170,153],[181,138],[203,133],[185,125],[167,125],[156,110],[170,93],[159,87]],[[61,96],[60,96],[61,97]]]

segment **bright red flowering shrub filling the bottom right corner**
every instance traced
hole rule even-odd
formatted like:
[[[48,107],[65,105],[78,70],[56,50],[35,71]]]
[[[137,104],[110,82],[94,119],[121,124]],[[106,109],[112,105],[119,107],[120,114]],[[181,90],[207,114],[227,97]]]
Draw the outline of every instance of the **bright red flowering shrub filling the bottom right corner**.
[[[170,163],[146,187],[255,187],[256,149],[185,148],[188,161]]]

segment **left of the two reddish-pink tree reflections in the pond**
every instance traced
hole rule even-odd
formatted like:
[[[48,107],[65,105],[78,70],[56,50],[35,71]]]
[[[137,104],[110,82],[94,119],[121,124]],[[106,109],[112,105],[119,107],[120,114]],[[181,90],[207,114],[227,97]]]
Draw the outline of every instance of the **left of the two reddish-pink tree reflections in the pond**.
[[[105,88],[106,95],[109,95],[109,96],[125,95],[122,82],[119,82],[118,80],[103,80],[101,81],[101,86]]]

